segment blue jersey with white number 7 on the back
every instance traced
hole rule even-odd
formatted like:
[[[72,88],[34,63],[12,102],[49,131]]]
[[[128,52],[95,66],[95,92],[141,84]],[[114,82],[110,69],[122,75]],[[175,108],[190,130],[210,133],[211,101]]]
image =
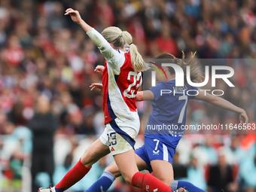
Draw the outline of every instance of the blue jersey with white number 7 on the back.
[[[187,102],[197,94],[198,87],[188,84],[175,87],[175,79],[172,79],[168,82],[160,81],[149,90],[154,93],[154,100],[151,102],[152,111],[144,136],[176,148],[184,132]]]

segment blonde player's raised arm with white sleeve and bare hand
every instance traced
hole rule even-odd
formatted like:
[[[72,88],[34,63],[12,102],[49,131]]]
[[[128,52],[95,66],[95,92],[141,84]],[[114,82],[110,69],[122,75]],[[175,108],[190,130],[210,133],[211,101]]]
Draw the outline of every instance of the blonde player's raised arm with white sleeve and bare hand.
[[[119,60],[124,58],[121,56],[120,53],[117,52],[117,50],[114,50],[111,45],[108,43],[108,41],[103,38],[103,36],[97,32],[95,29],[93,29],[91,26],[89,26],[87,23],[82,20],[80,14],[78,11],[73,10],[72,8],[69,8],[66,10],[65,15],[70,15],[72,20],[75,23],[78,23],[85,32],[87,32],[87,35],[93,40],[93,42],[96,44],[96,46],[99,48],[102,55],[105,57],[106,60],[111,61],[113,58],[114,60]],[[122,61],[121,61],[122,62]],[[117,69],[120,66],[115,66],[114,64],[121,63],[121,62],[108,62],[110,66],[113,69]]]

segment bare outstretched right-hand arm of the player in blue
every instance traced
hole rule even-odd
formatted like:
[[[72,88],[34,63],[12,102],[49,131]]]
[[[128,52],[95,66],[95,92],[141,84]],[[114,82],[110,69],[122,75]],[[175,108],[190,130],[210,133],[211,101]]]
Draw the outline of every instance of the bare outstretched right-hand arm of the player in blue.
[[[248,123],[247,114],[245,110],[243,110],[242,108],[239,108],[236,105],[233,105],[231,102],[228,102],[227,100],[222,99],[219,96],[212,96],[211,94],[205,93],[203,90],[200,90],[200,89],[198,89],[198,91],[199,91],[199,94],[195,96],[195,99],[203,100],[205,102],[211,103],[212,105],[216,105],[220,108],[224,108],[229,111],[239,113],[240,123]]]

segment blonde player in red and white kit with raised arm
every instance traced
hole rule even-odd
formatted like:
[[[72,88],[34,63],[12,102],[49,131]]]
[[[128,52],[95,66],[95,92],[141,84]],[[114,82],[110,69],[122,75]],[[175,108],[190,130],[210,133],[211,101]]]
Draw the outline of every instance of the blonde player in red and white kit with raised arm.
[[[105,131],[96,142],[86,149],[78,163],[56,184],[40,192],[62,192],[89,172],[93,163],[111,153],[127,183],[145,191],[172,191],[169,186],[152,175],[141,173],[136,166],[133,150],[139,133],[139,115],[136,109],[136,93],[142,84],[141,72],[144,61],[139,54],[130,33],[122,32],[117,27],[108,27],[102,35],[81,19],[78,11],[66,10],[87,35],[93,40],[103,56],[105,69],[102,72],[103,110]],[[125,46],[130,47],[126,51]],[[102,188],[102,191],[105,190]]]

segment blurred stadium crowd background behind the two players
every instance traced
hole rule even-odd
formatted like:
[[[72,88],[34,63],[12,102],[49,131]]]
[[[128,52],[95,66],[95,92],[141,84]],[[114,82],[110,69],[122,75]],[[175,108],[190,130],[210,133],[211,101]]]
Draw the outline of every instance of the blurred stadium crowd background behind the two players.
[[[41,94],[50,99],[50,111],[59,120],[53,184],[104,129],[102,95],[89,88],[101,81],[93,69],[102,65],[104,58],[81,27],[64,17],[66,8],[78,10],[99,32],[107,26],[129,31],[144,58],[160,53],[179,57],[181,50],[187,56],[197,51],[200,59],[256,56],[253,0],[0,0],[0,191],[30,189],[32,133],[26,124]],[[247,111],[250,122],[255,121],[256,110],[254,63],[230,63],[238,72],[233,78],[236,88],[224,95]],[[138,107],[142,114],[142,103]],[[237,123],[237,114],[192,102],[187,123],[195,120]],[[255,137],[235,132],[185,135],[174,157],[175,178],[187,179],[203,189],[215,187],[220,183],[210,170],[217,165],[232,171],[229,184],[222,180],[230,191],[255,191]],[[137,146],[142,143],[141,133]],[[111,161],[111,157],[100,160],[71,190],[84,191]],[[49,185],[44,173],[37,180],[42,187]],[[121,178],[111,190],[136,191]]]

